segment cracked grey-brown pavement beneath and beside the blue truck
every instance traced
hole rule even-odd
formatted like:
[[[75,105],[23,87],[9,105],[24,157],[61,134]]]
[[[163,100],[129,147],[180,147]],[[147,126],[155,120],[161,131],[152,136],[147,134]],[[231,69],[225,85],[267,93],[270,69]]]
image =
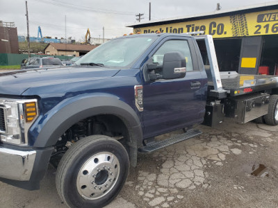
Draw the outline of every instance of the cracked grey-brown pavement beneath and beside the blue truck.
[[[124,189],[107,207],[278,207],[278,126],[222,123],[199,129],[203,134],[193,139],[140,154]],[[260,164],[266,168],[251,175]],[[38,191],[1,182],[0,190],[0,207],[65,207],[53,168]]]

